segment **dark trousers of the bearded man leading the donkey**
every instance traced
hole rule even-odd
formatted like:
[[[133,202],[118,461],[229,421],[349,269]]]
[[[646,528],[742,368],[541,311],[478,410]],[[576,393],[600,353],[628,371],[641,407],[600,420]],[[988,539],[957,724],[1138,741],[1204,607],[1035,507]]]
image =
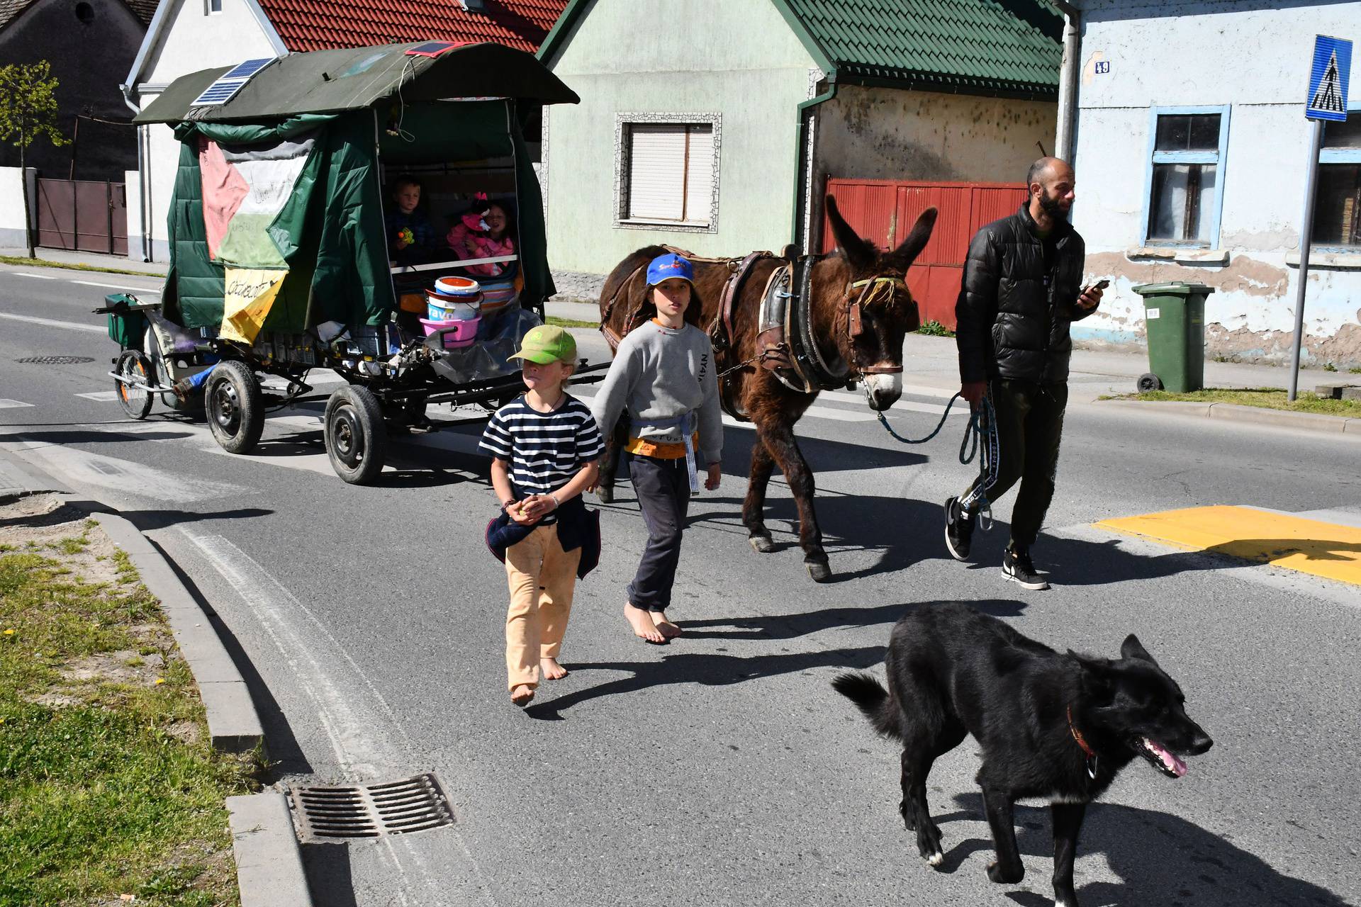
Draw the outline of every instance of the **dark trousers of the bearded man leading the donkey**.
[[[1011,547],[1025,549],[1034,544],[1053,500],[1068,385],[994,378],[988,382],[988,392],[998,423],[998,475],[989,483],[987,461],[980,457],[984,472],[973,480],[962,500],[970,502],[970,510],[977,513],[974,499],[980,488],[989,502],[996,503],[1019,479],[1021,491],[1011,509]]]

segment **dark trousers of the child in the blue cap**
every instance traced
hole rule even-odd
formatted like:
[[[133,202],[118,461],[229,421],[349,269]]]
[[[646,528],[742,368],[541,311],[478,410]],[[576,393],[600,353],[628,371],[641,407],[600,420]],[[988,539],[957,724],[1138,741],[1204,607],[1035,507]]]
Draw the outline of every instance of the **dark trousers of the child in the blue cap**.
[[[680,563],[680,532],[690,509],[690,475],[685,457],[659,460],[627,453],[625,457],[642,521],[648,525],[648,544],[642,549],[638,572],[629,583],[629,601],[644,611],[666,611],[671,605],[671,586]]]

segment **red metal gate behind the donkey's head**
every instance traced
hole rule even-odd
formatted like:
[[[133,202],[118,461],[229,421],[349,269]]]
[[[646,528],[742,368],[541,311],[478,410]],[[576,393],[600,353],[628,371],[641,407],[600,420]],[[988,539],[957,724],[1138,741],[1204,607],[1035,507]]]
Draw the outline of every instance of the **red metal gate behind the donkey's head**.
[[[954,302],[960,295],[964,260],[979,227],[1013,213],[1026,200],[1025,184],[909,182],[901,179],[827,178],[827,193],[847,223],[866,239],[893,249],[906,237],[917,215],[935,207],[931,241],[908,269],[908,287],[921,321],[939,321],[954,330]],[[822,250],[832,252],[832,224],[822,224]]]

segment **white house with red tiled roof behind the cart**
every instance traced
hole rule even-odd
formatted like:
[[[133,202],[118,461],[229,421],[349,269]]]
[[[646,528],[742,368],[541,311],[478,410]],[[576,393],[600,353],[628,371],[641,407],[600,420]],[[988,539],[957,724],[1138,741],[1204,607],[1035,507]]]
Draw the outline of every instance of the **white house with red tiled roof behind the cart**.
[[[146,107],[174,79],[259,57],[408,41],[494,41],[534,53],[568,0],[165,0],[122,92]],[[128,185],[129,256],[166,261],[178,141],[142,126],[140,179]],[[527,136],[528,139],[529,136]]]

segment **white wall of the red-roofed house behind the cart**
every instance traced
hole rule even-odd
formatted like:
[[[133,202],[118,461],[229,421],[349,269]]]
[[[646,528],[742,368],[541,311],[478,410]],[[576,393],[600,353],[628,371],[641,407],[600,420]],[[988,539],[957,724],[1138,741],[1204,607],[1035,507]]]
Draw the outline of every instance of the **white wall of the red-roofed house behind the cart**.
[[[222,0],[222,12],[204,14],[204,0],[162,0],[165,22],[159,41],[150,49],[133,101],[146,107],[165,86],[182,75],[226,67],[253,57],[274,57],[275,45],[246,0]],[[174,188],[180,143],[169,126],[143,126],[147,132],[142,189],[150,199],[152,260],[169,258],[166,215]],[[132,190],[128,194],[128,254],[142,258],[140,235],[133,239]],[[139,231],[140,234],[140,231]]]

